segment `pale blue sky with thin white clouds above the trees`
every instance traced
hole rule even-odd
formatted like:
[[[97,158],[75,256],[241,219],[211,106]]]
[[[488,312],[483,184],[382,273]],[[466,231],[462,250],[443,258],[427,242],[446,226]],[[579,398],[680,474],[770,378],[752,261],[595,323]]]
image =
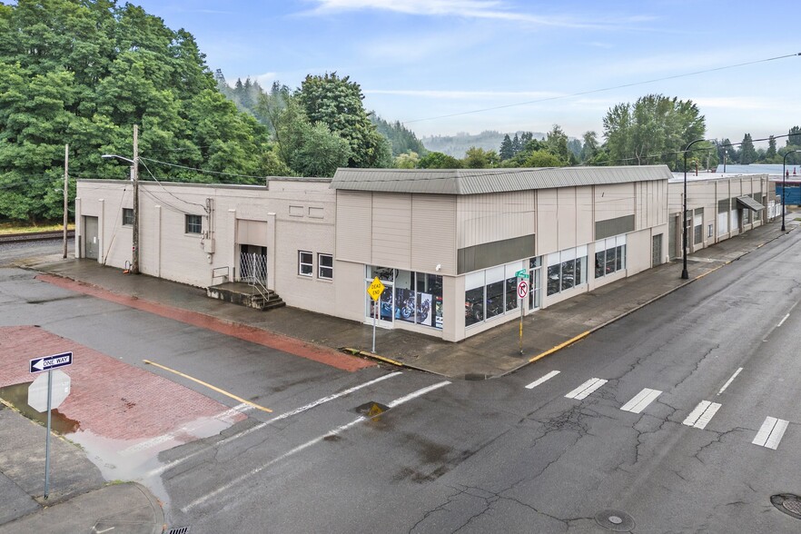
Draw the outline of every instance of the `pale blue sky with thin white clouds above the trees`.
[[[336,71],[361,85],[368,110],[419,137],[553,124],[600,136],[611,106],[649,93],[698,104],[708,137],[736,142],[801,124],[801,56],[763,61],[801,52],[786,24],[801,7],[789,0],[134,4],[193,34],[230,83],[250,76],[294,88],[306,74]],[[487,108],[499,109],[466,113]]]

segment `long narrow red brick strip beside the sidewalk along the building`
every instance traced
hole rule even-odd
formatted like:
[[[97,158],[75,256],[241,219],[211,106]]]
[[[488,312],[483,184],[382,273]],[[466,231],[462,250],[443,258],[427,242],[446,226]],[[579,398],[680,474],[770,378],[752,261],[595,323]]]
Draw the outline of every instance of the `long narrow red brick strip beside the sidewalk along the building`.
[[[375,365],[375,363],[371,361],[361,360],[360,358],[334,351],[329,347],[321,347],[320,345],[307,343],[275,332],[263,331],[252,326],[224,321],[210,315],[191,312],[189,310],[183,310],[182,308],[174,308],[173,306],[168,306],[159,302],[145,301],[132,297],[131,295],[121,295],[84,282],[76,282],[52,274],[40,274],[36,276],[36,279],[52,283],[74,292],[82,292],[99,299],[104,299],[105,301],[116,302],[117,304],[135,308],[136,310],[153,313],[206,330],[220,332],[241,340],[251,341],[252,343],[287,352],[295,356],[301,356],[308,360],[325,363],[341,371],[359,371],[365,367],[372,367]]]

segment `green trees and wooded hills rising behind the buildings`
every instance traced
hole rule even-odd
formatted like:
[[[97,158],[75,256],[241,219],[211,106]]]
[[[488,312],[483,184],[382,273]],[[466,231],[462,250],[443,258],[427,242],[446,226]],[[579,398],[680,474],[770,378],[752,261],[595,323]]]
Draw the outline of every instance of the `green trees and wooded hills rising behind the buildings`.
[[[212,73],[193,35],[116,0],[18,0],[0,4],[0,221],[62,215],[64,144],[70,175],[127,179],[140,125],[144,180],[264,183],[268,176],[331,176],[338,167],[490,168],[667,164],[680,171],[687,143],[706,134],[691,101],[648,94],[618,104],[596,132],[569,139],[559,124],[544,139],[503,137],[499,149],[462,158],[425,149],[399,122],[364,109],[361,86],[337,73],[290,88]],[[784,137],[784,136],[782,136]],[[750,134],[697,143],[688,163],[781,163],[801,149],[756,149]],[[792,154],[787,163],[801,158]],[[74,183],[70,195],[74,199]]]

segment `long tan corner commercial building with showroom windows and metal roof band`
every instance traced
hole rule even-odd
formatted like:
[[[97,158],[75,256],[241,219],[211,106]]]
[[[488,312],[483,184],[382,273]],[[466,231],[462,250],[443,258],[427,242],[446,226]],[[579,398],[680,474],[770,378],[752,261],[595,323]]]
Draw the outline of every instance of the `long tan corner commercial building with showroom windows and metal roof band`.
[[[460,341],[674,256],[672,177],[657,165],[340,169],[332,179],[263,186],[142,182],[139,267],[199,287],[256,280],[291,306]],[[727,183],[727,200],[764,203],[755,195],[766,185],[749,180]],[[701,210],[706,235],[707,213],[722,204],[698,191],[688,211],[695,224]],[[124,268],[132,183],[80,180],[75,208],[76,255]],[[716,238],[764,217],[738,216],[718,233],[716,213]],[[529,277],[525,298],[520,273]],[[373,301],[375,278],[384,290]]]

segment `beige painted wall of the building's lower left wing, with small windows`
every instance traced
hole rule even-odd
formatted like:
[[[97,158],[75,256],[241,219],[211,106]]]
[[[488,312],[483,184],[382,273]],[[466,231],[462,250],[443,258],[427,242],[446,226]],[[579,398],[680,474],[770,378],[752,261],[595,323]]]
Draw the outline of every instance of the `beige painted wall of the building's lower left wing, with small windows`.
[[[335,194],[329,185],[292,179],[271,180],[269,188],[142,182],[140,271],[200,287],[223,282],[213,278],[213,272],[226,272],[226,268],[229,279],[236,279],[241,244],[238,222],[264,223],[267,242],[256,233],[260,237],[250,244],[267,245],[270,289],[291,306],[335,314],[338,265],[334,265],[333,281],[317,276],[318,254],[335,252]],[[133,208],[132,184],[79,181],[77,195],[80,213],[101,219],[98,261],[123,268],[131,260],[133,227],[122,225],[122,210]],[[187,213],[202,216],[203,234],[185,232]],[[312,252],[312,277],[298,273],[299,251]]]

